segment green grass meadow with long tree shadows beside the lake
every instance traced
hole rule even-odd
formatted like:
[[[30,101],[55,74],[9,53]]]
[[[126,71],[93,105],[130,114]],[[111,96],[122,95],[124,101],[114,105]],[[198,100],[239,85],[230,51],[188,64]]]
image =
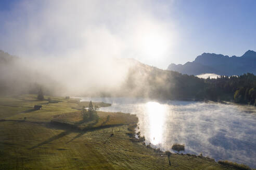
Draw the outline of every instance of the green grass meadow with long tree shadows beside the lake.
[[[98,112],[99,129],[55,126],[50,121],[56,118],[79,121],[70,115],[79,117],[72,109],[79,106],[64,97],[52,98],[60,102],[30,111],[47,101],[37,101],[36,95],[0,97],[0,169],[232,169],[182,154],[171,154],[169,165],[165,153],[131,141],[127,127],[137,119],[128,114]]]

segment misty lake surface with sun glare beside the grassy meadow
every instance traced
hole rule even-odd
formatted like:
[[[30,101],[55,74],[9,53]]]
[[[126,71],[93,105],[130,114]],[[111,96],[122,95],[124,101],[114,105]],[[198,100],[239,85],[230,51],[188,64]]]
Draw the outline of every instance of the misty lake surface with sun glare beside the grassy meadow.
[[[161,150],[184,144],[180,153],[200,154],[256,167],[256,109],[253,106],[127,97],[79,97],[110,103],[101,111],[136,114],[146,143]]]

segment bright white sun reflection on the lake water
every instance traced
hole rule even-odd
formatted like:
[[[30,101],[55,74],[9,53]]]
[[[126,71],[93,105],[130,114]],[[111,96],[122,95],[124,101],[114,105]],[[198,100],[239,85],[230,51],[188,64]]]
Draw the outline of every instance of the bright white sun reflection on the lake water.
[[[149,119],[150,143],[157,145],[162,143],[163,124],[166,108],[157,102],[146,104],[147,116]]]

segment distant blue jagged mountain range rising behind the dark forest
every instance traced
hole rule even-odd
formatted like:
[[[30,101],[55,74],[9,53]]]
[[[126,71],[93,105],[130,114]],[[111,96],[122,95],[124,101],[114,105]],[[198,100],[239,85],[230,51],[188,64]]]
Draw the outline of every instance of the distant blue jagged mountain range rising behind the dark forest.
[[[244,73],[256,74],[256,52],[248,50],[242,56],[231,56],[203,53],[193,61],[182,64],[170,64],[167,68],[188,75],[213,73],[217,75],[242,75]]]

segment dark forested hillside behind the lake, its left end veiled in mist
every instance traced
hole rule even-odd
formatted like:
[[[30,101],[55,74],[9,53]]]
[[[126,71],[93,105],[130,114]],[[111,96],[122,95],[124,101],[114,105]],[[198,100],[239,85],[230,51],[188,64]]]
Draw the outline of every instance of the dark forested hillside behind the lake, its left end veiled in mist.
[[[202,79],[137,62],[130,68],[123,89],[126,92],[122,94],[164,100],[225,100],[256,105],[256,76],[250,73]]]

